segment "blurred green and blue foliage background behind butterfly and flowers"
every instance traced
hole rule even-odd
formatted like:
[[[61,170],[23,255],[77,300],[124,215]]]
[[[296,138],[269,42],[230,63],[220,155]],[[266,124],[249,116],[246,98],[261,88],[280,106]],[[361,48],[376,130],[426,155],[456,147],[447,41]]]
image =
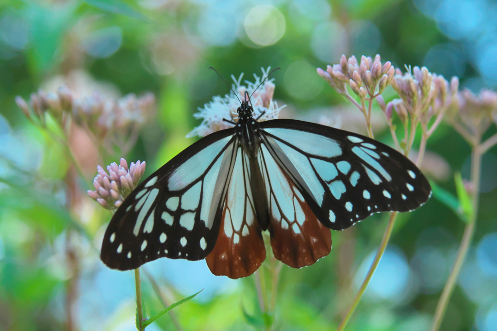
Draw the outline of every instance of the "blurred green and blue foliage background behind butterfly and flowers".
[[[228,93],[208,66],[230,84],[232,74],[254,81],[261,67],[279,66],[274,99],[287,105],[280,117],[364,134],[362,114],[317,67],[338,63],[342,54],[380,54],[403,70],[427,66],[447,79],[459,76],[474,92],[495,89],[496,17],[490,0],[1,1],[0,330],[136,330],[133,272],[100,262],[112,214],[86,190],[97,164],[146,161],[148,176],[195,141],[185,138],[200,124],[192,115]],[[136,97],[119,99],[128,117],[112,135],[89,127],[105,138],[95,143],[74,129],[60,141],[64,133],[33,125],[15,102],[60,86],[82,100],[83,113],[105,100]],[[146,92],[155,95],[153,106]],[[392,143],[379,109],[373,119],[376,138]],[[454,172],[469,177],[470,147],[442,124],[427,149],[427,176],[455,192]],[[494,147],[483,157],[477,230],[441,330],[497,328],[496,153]],[[331,254],[315,265],[283,266],[274,330],[334,330],[387,222],[387,214],[375,214],[333,232]],[[463,230],[435,199],[400,215],[348,330],[426,330]],[[205,261],[160,259],[145,269],[170,302],[204,288],[173,310],[180,327],[165,316],[147,330],[256,329],[243,314],[257,309],[253,276],[217,277]],[[150,316],[163,308],[143,278]]]

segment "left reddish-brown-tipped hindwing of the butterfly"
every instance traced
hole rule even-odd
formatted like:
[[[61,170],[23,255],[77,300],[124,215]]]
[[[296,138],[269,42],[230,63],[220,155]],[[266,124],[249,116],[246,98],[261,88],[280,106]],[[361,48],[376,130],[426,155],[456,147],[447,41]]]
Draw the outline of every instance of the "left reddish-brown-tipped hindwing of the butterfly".
[[[247,277],[266,258],[261,227],[256,216],[250,187],[250,160],[237,147],[235,165],[222,201],[222,217],[216,246],[206,262],[215,275]]]

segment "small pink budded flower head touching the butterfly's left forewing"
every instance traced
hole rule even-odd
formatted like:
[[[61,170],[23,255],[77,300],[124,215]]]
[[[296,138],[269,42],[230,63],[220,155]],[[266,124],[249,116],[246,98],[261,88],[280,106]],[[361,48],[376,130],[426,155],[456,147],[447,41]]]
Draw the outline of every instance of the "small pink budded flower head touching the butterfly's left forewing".
[[[96,191],[88,190],[88,196],[109,210],[117,209],[126,197],[136,188],[145,172],[145,161],[128,162],[121,158],[119,165],[113,162],[107,172],[97,166],[98,175],[93,179]]]

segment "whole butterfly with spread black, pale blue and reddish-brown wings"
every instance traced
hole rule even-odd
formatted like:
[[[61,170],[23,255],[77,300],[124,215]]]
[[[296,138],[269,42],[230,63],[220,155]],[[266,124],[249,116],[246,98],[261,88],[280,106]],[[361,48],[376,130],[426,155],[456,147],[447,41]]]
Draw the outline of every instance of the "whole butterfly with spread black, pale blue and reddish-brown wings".
[[[105,265],[206,259],[215,275],[247,277],[266,258],[268,230],[274,257],[300,268],[330,253],[330,229],[431,196],[419,169],[387,145],[315,123],[258,122],[249,100],[234,128],[193,143],[123,201],[103,238]]]

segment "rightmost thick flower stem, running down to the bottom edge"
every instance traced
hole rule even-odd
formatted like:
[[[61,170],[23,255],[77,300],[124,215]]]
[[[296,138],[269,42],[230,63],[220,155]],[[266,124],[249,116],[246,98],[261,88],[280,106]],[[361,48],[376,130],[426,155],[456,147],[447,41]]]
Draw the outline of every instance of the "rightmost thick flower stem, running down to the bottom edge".
[[[472,219],[470,219],[469,224],[466,225],[466,228],[464,229],[464,235],[461,241],[461,245],[459,246],[459,250],[457,251],[456,261],[454,262],[452,271],[450,272],[449,278],[447,278],[447,282],[445,283],[445,286],[443,288],[442,295],[440,296],[435,309],[431,331],[437,331],[440,328],[443,316],[445,315],[445,311],[447,310],[447,305],[449,304],[450,296],[452,294],[452,291],[454,290],[454,285],[468,253],[473,234],[475,233],[479,204],[481,162],[482,151],[480,146],[477,145],[473,147],[473,155],[471,159],[471,181],[473,182],[475,188],[475,193],[473,196],[473,217]]]

